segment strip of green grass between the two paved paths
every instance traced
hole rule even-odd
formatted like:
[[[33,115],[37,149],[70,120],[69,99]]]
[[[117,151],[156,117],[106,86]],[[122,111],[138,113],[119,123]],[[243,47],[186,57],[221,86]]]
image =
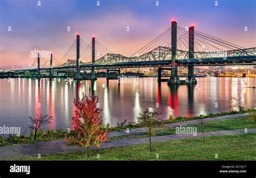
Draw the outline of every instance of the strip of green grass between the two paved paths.
[[[202,132],[203,128],[201,124],[189,124],[183,125],[186,127],[197,127],[197,132]],[[233,130],[233,129],[249,129],[256,128],[256,122],[250,122],[246,117],[234,118],[234,119],[223,119],[215,120],[211,122],[204,122],[204,131],[220,131],[220,130]],[[175,134],[175,127],[172,128],[160,128],[160,130],[155,131],[156,136],[163,136],[166,134]],[[121,139],[131,139],[131,138],[142,138],[149,137],[149,132],[142,133],[131,133],[123,136],[116,136],[110,138],[110,140],[121,140]]]

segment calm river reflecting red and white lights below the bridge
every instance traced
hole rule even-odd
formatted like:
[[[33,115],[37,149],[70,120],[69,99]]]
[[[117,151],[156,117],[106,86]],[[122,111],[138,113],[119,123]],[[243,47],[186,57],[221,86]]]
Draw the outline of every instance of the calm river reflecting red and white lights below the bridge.
[[[89,89],[99,97],[104,124],[127,119],[135,122],[146,108],[161,112],[160,118],[206,115],[230,110],[232,97],[240,97],[247,108],[256,108],[255,78],[197,78],[196,85],[167,86],[157,78],[69,82],[64,79],[0,79],[0,126],[20,126],[29,133],[28,116],[37,113],[53,116],[44,129],[72,129],[73,99]]]

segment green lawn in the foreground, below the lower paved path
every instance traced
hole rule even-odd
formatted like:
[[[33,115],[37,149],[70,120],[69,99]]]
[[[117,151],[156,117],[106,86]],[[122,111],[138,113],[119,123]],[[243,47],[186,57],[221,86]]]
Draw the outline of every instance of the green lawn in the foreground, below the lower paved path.
[[[256,160],[256,134],[210,136],[90,151],[89,160]],[[99,158],[97,158],[97,154]],[[156,158],[157,154],[159,158]],[[218,154],[218,159],[215,158]],[[42,156],[22,160],[87,160],[86,152]]]

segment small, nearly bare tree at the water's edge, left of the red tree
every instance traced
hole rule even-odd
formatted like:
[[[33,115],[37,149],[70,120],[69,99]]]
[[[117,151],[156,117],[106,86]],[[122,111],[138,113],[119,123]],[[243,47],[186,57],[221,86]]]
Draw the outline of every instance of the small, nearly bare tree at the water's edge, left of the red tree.
[[[41,113],[35,117],[29,116],[30,125],[29,128],[32,131],[35,131],[34,140],[36,141],[36,133],[37,131],[44,125],[50,124],[52,120],[52,116],[44,115],[42,116]]]

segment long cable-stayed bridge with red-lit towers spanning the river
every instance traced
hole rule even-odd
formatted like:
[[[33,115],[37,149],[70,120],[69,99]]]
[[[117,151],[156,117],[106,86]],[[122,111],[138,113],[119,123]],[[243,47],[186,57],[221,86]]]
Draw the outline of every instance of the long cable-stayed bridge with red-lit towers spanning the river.
[[[46,77],[58,77],[58,72],[75,72],[76,80],[83,80],[81,70],[91,70],[90,79],[96,80],[95,70],[110,70],[120,68],[158,67],[158,81],[161,81],[161,70],[171,70],[169,84],[197,83],[194,77],[194,66],[218,65],[256,65],[256,47],[244,48],[225,40],[194,30],[194,26],[187,29],[177,26],[172,20],[171,27],[158,35],[144,47],[131,56],[112,53],[99,41],[92,38],[87,44],[77,34],[62,59],[56,59],[52,54],[48,58],[41,58],[37,54],[30,69],[13,70],[35,74],[38,78],[48,71]],[[180,81],[178,66],[188,66],[185,81]]]

